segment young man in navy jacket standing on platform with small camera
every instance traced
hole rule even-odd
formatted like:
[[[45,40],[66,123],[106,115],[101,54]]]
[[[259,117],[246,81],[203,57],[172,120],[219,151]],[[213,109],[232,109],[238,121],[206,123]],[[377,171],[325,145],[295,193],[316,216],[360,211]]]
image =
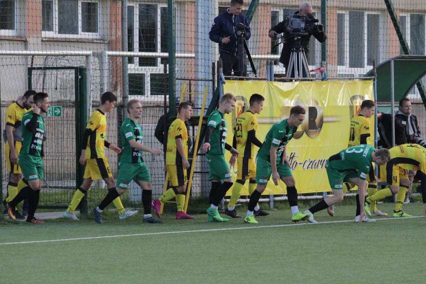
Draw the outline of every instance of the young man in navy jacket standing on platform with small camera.
[[[225,76],[230,76],[232,70],[235,76],[245,76],[247,70],[244,47],[240,46],[243,50],[242,54],[238,54],[237,48],[235,53],[231,54],[233,47],[237,43],[238,29],[239,31],[241,31],[241,28],[243,29],[242,35],[245,40],[248,40],[251,35],[248,20],[241,14],[243,5],[243,0],[231,0],[230,7],[223,14],[214,18],[209,32],[210,40],[219,43],[219,55],[222,59],[223,75]],[[243,70],[238,68],[240,59],[244,60]]]

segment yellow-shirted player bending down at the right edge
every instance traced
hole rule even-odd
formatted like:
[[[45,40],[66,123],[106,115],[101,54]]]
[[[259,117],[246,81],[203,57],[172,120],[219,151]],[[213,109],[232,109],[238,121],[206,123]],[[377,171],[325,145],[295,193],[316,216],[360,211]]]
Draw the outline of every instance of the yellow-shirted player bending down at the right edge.
[[[421,175],[424,176],[426,174],[426,149],[419,144],[401,144],[390,148],[389,151],[390,160],[386,164],[380,166],[379,172],[380,179],[385,181],[389,187],[368,196],[366,202],[369,205],[365,206],[365,210],[369,210],[369,206],[373,201],[396,194],[393,216],[412,217],[401,210],[405,193],[409,186],[406,170],[420,170]],[[426,214],[426,203],[424,204],[424,212]]]

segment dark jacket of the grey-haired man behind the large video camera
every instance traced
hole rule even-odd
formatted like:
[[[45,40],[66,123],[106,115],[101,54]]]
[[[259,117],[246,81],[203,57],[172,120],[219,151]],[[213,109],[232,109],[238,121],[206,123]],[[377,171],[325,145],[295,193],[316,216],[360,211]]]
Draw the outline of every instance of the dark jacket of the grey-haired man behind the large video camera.
[[[296,11],[294,14],[298,14],[299,11]],[[284,21],[279,22],[277,25],[273,26],[271,30],[276,31],[277,33],[284,32]],[[308,32],[306,35],[302,35],[300,37],[300,42],[303,46],[304,53],[306,54],[306,58],[309,56],[309,39],[310,36],[313,35],[319,42],[324,42],[327,39],[324,31],[315,31],[313,33]],[[286,67],[288,66],[288,62],[290,61],[291,48],[293,47],[294,41],[292,37],[289,37],[288,34],[284,34],[287,42],[283,44],[281,50],[281,56],[279,56],[279,62],[284,64]]]

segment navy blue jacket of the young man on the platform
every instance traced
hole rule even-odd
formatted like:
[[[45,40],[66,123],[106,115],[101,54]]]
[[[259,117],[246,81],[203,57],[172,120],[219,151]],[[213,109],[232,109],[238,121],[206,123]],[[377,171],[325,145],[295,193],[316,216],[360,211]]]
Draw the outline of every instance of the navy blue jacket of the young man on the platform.
[[[232,25],[232,23],[242,23],[245,25],[244,38],[248,40],[251,36],[250,25],[248,24],[248,20],[243,14],[233,15],[228,12],[228,9],[214,18],[214,22],[211,25],[211,29],[209,34],[210,40],[219,43],[220,51],[230,53],[232,51],[233,46],[235,45],[236,37],[237,37],[237,29]],[[223,44],[220,39],[223,37],[229,37],[230,41],[226,44]]]

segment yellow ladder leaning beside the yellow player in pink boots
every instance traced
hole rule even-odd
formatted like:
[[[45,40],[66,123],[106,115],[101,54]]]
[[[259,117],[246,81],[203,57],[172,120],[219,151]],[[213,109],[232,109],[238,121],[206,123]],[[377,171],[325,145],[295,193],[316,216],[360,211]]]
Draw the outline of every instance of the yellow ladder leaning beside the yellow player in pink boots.
[[[199,95],[199,94],[203,95],[201,107],[199,107],[199,108],[194,107],[195,109],[200,110],[199,115],[191,115],[191,118],[190,118],[190,120],[192,120],[192,121],[194,121],[194,120],[196,121],[196,119],[198,120],[198,123],[197,123],[197,126],[198,126],[197,129],[198,130],[196,131],[195,136],[188,135],[188,139],[195,138],[195,142],[192,145],[192,147],[193,147],[192,157],[190,157],[189,153],[188,153],[188,161],[190,163],[190,171],[189,171],[189,175],[188,175],[188,183],[186,185],[185,205],[183,207],[183,210],[186,212],[186,210],[188,208],[189,195],[190,195],[190,192],[191,192],[191,185],[192,185],[192,177],[193,177],[193,173],[194,173],[194,169],[195,169],[196,156],[197,156],[197,152],[198,152],[199,135],[201,133],[202,119],[204,117],[204,109],[205,109],[205,103],[206,103],[206,100],[207,100],[208,86],[204,87],[204,92],[190,92],[190,91],[188,92],[188,91],[185,91],[185,89],[186,89],[186,83],[183,83],[182,84],[182,90],[180,92],[180,100],[179,100],[180,102],[184,100],[186,94],[187,95],[192,95],[192,94],[193,95]],[[189,130],[189,129],[187,129],[187,130]],[[165,133],[164,133],[164,135],[165,135]],[[167,188],[168,188],[168,172],[165,175],[163,192],[165,192],[167,190]],[[166,202],[176,203],[176,201],[166,201]],[[162,213],[162,210],[163,210],[163,205],[164,204],[161,204],[161,210],[160,210],[161,213]]]

